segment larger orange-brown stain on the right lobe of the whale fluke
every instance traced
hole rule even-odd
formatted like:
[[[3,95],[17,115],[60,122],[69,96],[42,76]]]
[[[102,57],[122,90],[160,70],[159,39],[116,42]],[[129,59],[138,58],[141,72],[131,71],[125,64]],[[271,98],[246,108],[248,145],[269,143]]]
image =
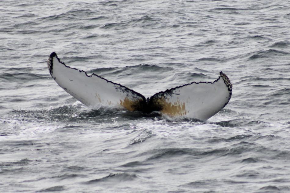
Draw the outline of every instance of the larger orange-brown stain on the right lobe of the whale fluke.
[[[185,102],[180,102],[179,100],[174,103],[166,102],[165,98],[162,97],[157,100],[157,103],[162,107],[160,112],[169,116],[183,116],[187,113]]]

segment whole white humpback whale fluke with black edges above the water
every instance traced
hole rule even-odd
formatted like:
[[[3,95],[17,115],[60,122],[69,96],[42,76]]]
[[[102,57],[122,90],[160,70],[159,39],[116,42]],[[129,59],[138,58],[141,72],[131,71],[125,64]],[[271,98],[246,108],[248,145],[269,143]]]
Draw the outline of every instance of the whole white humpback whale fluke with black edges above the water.
[[[125,107],[129,111],[160,111],[169,116],[207,120],[227,105],[232,84],[223,72],[214,82],[192,82],[146,99],[140,93],[93,73],[71,68],[56,53],[48,59],[49,73],[61,88],[85,105]]]

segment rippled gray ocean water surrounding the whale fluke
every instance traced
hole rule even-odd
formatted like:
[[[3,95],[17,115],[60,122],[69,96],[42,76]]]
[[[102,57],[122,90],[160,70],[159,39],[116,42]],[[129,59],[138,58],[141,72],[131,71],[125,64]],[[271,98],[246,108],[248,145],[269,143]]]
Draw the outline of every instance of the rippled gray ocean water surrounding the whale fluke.
[[[0,0],[0,192],[290,192],[290,2]],[[228,75],[206,122],[92,109],[46,60],[149,97]]]

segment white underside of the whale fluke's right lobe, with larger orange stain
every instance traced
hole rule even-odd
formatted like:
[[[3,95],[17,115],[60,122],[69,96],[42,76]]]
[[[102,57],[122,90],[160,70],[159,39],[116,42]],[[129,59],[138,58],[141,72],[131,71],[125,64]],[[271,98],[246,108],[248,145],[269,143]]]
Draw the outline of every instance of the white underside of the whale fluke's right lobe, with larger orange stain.
[[[221,73],[221,76],[224,76]],[[231,97],[223,78],[214,83],[192,83],[153,95],[155,103],[161,103],[162,113],[207,120],[218,113]]]

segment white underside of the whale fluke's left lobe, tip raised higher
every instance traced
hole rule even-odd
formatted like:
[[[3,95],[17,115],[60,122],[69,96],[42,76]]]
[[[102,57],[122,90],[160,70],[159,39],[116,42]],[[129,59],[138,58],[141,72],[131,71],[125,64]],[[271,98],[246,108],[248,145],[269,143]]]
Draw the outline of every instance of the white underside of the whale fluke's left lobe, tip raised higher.
[[[56,83],[85,105],[124,106],[133,110],[130,102],[143,101],[138,93],[120,84],[114,84],[95,74],[88,76],[85,71],[66,66],[56,55],[51,58],[51,62],[51,76]]]

